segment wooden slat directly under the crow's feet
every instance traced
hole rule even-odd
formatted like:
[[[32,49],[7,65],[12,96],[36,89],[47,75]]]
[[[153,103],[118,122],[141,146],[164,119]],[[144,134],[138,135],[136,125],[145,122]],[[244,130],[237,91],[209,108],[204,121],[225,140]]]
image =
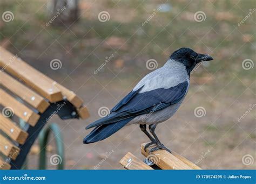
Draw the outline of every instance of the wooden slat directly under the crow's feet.
[[[146,148],[144,151],[146,143],[141,146],[142,154],[149,158],[154,164],[156,164],[161,169],[192,169],[190,166],[186,165],[183,161],[179,160],[173,154],[167,152],[166,150],[157,150],[149,153],[149,150],[154,146]]]

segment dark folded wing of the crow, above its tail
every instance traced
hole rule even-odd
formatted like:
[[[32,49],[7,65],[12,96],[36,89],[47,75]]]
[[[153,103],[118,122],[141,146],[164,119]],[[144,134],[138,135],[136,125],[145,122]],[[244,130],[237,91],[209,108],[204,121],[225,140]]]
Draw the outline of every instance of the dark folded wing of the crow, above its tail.
[[[181,100],[186,94],[188,82],[178,84],[169,89],[155,89],[144,93],[131,91],[112,110],[109,116],[97,120],[86,127],[90,129],[95,126],[116,123],[131,117],[148,114],[150,111],[158,111],[169,107]]]

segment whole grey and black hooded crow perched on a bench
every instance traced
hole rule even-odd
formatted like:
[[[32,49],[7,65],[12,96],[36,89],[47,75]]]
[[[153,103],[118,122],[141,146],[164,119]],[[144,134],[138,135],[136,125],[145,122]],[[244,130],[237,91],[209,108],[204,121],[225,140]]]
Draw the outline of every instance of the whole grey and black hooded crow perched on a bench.
[[[190,48],[173,52],[161,68],[147,74],[106,117],[86,127],[95,128],[84,138],[84,144],[95,143],[117,132],[125,125],[139,124],[140,129],[151,140],[146,147],[156,144],[152,151],[164,149],[154,132],[158,123],[172,117],[183,102],[190,86],[190,73],[197,63],[210,61],[209,55],[199,54]],[[146,130],[149,125],[150,133]]]

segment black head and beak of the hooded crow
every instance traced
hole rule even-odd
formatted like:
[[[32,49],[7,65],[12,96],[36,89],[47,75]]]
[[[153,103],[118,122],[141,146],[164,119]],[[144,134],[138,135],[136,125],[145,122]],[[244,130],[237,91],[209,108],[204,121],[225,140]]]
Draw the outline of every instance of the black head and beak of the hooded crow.
[[[170,56],[170,59],[183,63],[183,65],[186,66],[188,73],[193,70],[197,63],[213,60],[210,55],[196,53],[191,48],[186,47],[174,51]]]

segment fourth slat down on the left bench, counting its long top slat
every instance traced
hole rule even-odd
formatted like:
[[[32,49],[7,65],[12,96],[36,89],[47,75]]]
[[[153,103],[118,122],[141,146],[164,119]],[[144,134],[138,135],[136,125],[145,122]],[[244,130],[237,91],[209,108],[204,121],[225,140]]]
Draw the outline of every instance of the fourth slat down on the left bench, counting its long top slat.
[[[9,118],[5,118],[0,114],[0,130],[8,135],[12,140],[19,144],[24,144],[28,133],[18,128]]]

